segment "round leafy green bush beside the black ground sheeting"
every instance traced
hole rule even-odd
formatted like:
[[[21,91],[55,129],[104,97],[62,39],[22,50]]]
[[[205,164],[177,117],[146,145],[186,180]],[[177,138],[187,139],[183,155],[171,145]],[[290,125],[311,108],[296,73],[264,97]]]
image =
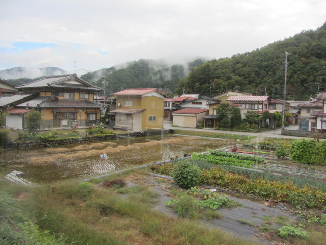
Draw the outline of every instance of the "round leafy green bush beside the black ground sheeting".
[[[177,185],[188,189],[199,184],[201,170],[191,162],[182,161],[175,164],[172,176]]]

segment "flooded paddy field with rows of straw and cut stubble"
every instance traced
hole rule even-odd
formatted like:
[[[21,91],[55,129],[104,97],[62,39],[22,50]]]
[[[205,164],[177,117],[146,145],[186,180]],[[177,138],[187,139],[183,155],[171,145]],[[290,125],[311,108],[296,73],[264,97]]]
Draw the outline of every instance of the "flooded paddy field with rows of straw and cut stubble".
[[[19,150],[0,155],[2,173],[20,171],[32,182],[64,178],[87,178],[184,154],[216,149],[225,144],[218,139],[157,135],[123,138],[98,143],[62,145],[56,148]],[[106,154],[108,159],[100,159]]]

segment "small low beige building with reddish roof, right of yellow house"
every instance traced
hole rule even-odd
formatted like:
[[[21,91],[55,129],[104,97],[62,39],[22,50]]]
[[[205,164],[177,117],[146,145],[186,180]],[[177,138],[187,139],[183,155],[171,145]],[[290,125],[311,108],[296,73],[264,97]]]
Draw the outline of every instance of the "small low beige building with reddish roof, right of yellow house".
[[[172,123],[179,127],[195,128],[202,117],[208,115],[208,111],[205,108],[183,108],[172,113]]]

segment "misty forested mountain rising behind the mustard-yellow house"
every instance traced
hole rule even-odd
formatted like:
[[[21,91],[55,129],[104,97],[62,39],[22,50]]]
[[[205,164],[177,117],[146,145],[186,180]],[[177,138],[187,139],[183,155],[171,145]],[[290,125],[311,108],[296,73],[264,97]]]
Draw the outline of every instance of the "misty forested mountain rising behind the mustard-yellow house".
[[[107,83],[105,94],[111,94],[126,88],[159,87],[169,93],[178,86],[180,79],[185,78],[191,69],[203,62],[204,60],[197,59],[189,62],[186,66],[181,64],[170,66],[162,60],[140,59],[128,62],[122,67],[118,65],[89,72],[81,76],[81,78],[96,86],[103,87],[105,77]]]

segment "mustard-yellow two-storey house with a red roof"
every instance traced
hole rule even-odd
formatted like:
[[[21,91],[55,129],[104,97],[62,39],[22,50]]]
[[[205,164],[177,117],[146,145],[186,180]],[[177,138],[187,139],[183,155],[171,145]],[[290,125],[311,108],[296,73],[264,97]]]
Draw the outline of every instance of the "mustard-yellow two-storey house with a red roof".
[[[139,131],[163,128],[164,98],[156,88],[125,89],[113,93],[117,97],[115,128]]]

